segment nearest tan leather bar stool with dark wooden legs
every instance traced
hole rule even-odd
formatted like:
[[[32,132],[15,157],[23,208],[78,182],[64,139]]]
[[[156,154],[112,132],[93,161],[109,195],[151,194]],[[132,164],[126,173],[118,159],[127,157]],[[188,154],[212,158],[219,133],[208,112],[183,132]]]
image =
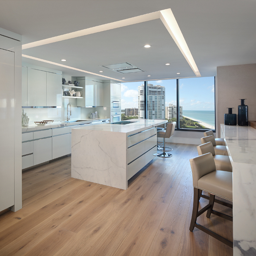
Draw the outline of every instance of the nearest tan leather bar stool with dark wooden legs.
[[[213,231],[205,228],[204,226],[196,222],[197,217],[207,211],[206,217],[210,218],[211,214],[218,215],[227,220],[233,221],[232,216],[220,213],[213,210],[215,195],[225,198],[228,201],[233,200],[232,195],[232,172],[216,170],[214,159],[211,153],[207,153],[201,156],[190,159],[190,165],[193,175],[193,186],[194,186],[194,204],[192,218],[190,222],[189,230],[193,231],[194,227],[199,228],[203,232],[219,241],[233,247],[233,243],[228,239],[214,233]],[[198,211],[200,190],[204,190],[210,193],[209,204]],[[228,203],[226,203],[228,204]],[[231,204],[230,204],[231,205]]]

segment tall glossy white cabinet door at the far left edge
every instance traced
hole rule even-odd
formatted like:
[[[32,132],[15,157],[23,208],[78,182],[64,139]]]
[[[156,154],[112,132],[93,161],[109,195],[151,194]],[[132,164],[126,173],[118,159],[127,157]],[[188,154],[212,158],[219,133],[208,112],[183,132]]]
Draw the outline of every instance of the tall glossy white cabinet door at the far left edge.
[[[0,49],[0,211],[14,205],[14,52]],[[4,93],[4,91],[6,91]]]

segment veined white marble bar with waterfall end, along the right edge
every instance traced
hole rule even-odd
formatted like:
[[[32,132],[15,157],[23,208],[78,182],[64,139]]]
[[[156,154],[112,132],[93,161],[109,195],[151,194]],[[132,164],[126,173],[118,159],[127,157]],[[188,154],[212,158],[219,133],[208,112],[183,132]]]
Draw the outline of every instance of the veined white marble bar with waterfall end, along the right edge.
[[[233,166],[234,256],[256,255],[256,130],[221,125]]]

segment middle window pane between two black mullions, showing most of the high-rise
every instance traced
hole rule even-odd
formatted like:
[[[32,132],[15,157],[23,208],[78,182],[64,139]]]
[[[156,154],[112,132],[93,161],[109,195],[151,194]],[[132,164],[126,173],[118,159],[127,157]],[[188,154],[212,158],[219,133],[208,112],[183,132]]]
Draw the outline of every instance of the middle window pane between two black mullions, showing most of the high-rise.
[[[176,121],[176,79],[148,81],[148,119]]]

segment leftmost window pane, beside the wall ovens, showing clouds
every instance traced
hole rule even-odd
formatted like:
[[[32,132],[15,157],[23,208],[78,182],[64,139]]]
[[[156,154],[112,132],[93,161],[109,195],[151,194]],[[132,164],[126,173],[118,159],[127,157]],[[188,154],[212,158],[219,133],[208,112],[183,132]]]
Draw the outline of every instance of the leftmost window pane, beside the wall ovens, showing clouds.
[[[121,84],[121,116],[122,120],[144,119],[144,82]]]

